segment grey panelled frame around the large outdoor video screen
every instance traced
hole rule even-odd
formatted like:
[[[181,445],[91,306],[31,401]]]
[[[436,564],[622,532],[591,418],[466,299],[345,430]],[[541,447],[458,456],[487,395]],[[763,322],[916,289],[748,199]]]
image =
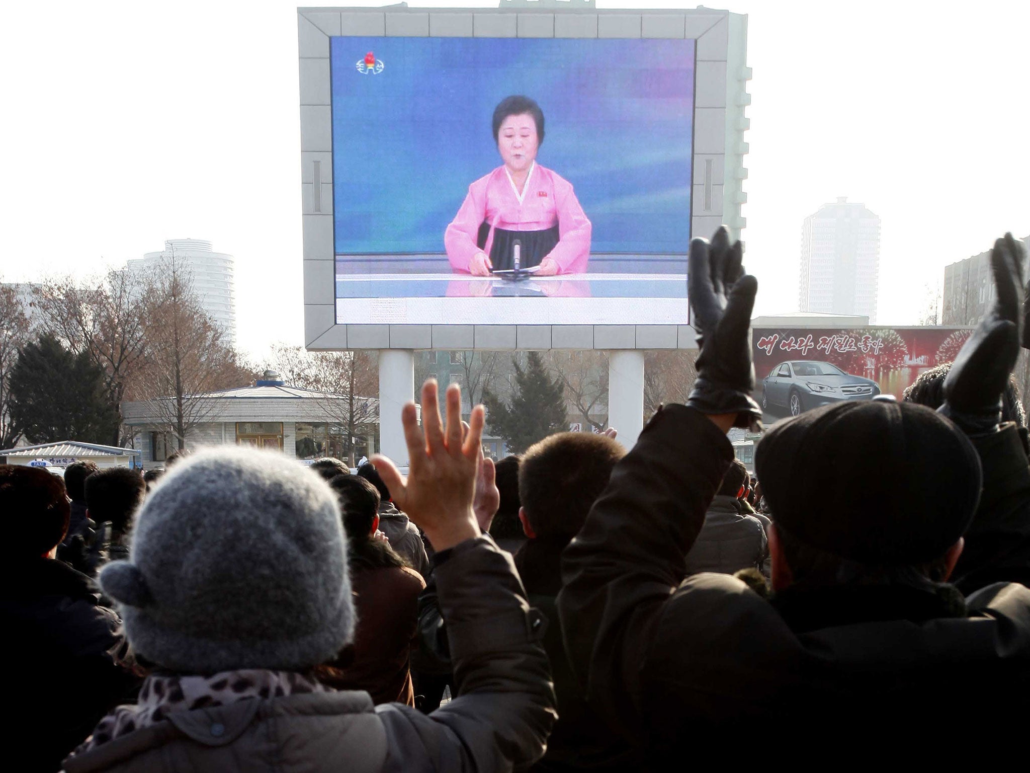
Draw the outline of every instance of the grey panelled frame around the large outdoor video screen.
[[[403,299],[376,299],[368,324],[336,324],[330,38],[337,36],[688,38],[695,41],[691,233],[725,223],[735,234],[747,171],[744,107],[747,19],[708,9],[604,11],[595,9],[339,8],[298,10],[302,203],[304,221],[305,343],[341,348],[694,348],[686,301],[675,324],[637,324],[631,309],[605,320],[584,313],[571,324],[491,323],[479,310],[442,313],[439,322],[406,324]],[[460,300],[460,299],[447,299]],[[488,302],[509,299],[486,299]],[[554,299],[550,299],[554,300]],[[576,299],[583,301],[586,299]],[[399,322],[400,321],[400,322]]]

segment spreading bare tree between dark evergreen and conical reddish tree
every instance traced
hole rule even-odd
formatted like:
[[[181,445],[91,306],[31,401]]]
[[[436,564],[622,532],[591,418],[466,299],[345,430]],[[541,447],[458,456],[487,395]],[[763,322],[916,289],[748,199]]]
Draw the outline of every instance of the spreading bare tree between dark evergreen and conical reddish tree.
[[[152,280],[150,274],[112,269],[82,280],[47,279],[33,293],[46,331],[103,370],[108,402],[118,415],[145,361],[144,300],[152,294]],[[109,442],[121,445],[124,435],[119,422]]]

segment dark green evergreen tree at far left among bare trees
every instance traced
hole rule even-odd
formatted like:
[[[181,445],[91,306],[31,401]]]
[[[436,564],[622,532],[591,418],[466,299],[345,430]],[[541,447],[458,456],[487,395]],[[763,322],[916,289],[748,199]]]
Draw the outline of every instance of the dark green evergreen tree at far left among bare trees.
[[[50,334],[19,350],[10,373],[10,418],[33,443],[109,443],[118,416],[104,372],[90,355],[73,355]]]

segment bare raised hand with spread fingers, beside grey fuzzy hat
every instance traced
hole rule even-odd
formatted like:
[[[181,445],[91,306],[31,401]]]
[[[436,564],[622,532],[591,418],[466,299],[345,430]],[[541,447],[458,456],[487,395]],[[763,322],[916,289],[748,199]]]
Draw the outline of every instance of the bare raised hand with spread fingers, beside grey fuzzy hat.
[[[410,460],[407,479],[386,457],[373,459],[393,503],[421,527],[438,551],[478,537],[473,498],[482,453],[483,406],[472,409],[465,432],[461,390],[451,384],[445,426],[437,403],[437,382],[430,379],[422,384],[422,426],[418,426],[414,403],[404,406],[401,421]]]

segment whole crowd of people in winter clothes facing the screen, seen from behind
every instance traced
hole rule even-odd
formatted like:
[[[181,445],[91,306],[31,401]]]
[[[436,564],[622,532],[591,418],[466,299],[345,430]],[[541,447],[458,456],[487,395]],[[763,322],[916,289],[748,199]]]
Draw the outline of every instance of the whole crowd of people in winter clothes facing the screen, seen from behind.
[[[756,477],[726,434],[761,421],[757,282],[724,229],[691,245],[690,398],[628,452],[560,433],[494,463],[482,407],[464,423],[451,386],[441,415],[431,380],[421,423],[402,415],[407,476],[244,448],[63,482],[0,466],[8,754],[69,773],[631,771],[713,748],[954,761],[1018,738],[1024,259],[995,243],[995,300],[951,366],[902,402],[777,424]]]

